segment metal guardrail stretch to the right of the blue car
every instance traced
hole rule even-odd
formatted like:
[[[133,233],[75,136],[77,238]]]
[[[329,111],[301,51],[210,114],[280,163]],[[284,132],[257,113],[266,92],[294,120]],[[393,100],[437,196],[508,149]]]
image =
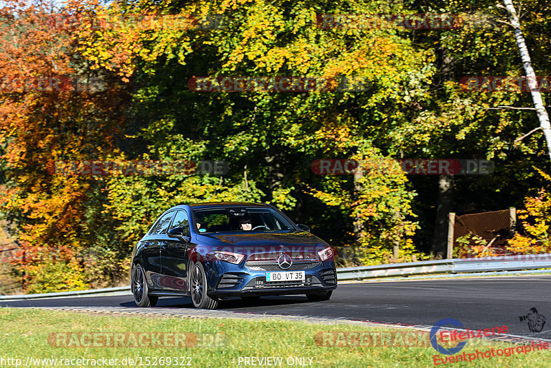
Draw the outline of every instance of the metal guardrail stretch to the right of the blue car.
[[[337,279],[341,281],[364,280],[391,276],[518,271],[542,268],[551,268],[551,254],[423,260],[412,263],[348,267],[337,269]]]

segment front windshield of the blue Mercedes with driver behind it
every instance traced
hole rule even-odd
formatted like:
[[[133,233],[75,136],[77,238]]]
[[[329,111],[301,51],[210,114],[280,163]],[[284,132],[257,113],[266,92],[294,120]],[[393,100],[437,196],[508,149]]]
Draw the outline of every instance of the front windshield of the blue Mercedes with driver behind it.
[[[292,230],[293,225],[271,208],[216,207],[195,209],[198,232],[273,232]]]

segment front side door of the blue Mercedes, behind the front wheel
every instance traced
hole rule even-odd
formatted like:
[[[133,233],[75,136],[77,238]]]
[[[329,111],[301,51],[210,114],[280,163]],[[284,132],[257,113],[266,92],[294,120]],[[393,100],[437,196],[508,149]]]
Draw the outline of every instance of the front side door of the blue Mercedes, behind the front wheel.
[[[182,227],[184,237],[189,239],[189,216],[184,209],[178,209],[170,229]],[[177,238],[165,238],[160,246],[161,272],[166,291],[187,291],[187,245]]]

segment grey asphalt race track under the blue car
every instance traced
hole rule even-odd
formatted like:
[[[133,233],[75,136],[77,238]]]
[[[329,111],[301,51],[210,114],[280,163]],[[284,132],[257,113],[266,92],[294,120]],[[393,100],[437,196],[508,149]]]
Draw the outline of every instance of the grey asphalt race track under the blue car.
[[[373,322],[434,325],[455,318],[469,329],[507,326],[509,334],[551,339],[551,276],[515,276],[342,284],[331,300],[305,296],[264,297],[256,302],[225,300],[219,309],[255,314],[315,316]],[[131,295],[0,302],[6,307],[134,307]],[[158,307],[193,308],[189,298],[160,298]],[[548,318],[532,333],[519,316],[536,307]]]

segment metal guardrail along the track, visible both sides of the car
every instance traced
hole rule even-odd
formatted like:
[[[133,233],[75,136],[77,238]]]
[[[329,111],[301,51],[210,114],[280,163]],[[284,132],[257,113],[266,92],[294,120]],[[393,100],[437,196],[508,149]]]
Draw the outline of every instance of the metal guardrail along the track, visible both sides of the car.
[[[455,258],[423,260],[412,263],[391,263],[389,265],[347,267],[337,269],[337,280],[364,280],[392,276],[472,274],[481,272],[519,271],[521,269],[551,268],[551,254],[527,254],[525,256],[499,256],[485,258]],[[551,272],[551,270],[550,270]],[[68,296],[93,296],[114,292],[129,292],[129,286],[107,289],[79,290],[48,294],[25,294],[0,296],[0,301],[28,300],[40,298],[63,298]]]

